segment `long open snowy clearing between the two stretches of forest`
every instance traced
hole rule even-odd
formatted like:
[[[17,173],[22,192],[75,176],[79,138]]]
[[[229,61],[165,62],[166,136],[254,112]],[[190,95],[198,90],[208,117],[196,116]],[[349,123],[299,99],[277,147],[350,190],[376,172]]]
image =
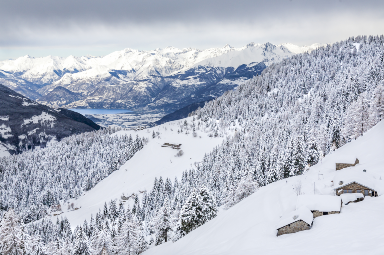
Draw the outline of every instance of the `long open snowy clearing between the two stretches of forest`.
[[[192,118],[186,118],[189,124],[192,123]],[[75,207],[79,208],[78,210],[68,212],[67,205],[63,205],[64,213],[52,217],[53,222],[56,222],[56,217],[66,216],[71,227],[75,228],[76,225],[83,224],[85,219],[89,221],[91,214],[95,216],[99,209],[103,209],[105,202],[108,203],[112,199],[119,201],[123,194],[130,196],[132,193],[136,194],[139,193],[138,191],[151,189],[155,177],[162,176],[164,180],[166,178],[174,180],[177,176],[180,179],[184,170],[192,169],[195,162],[200,162],[205,153],[212,151],[223,141],[222,137],[209,137],[208,133],[202,130],[196,130],[196,137],[192,135],[191,130],[187,135],[185,131],[178,134],[179,125],[182,125],[184,120],[172,121],[140,131],[115,133],[116,135],[132,135],[133,138],[136,135],[148,137],[149,142],[119,170],[113,172],[77,200],[70,201],[74,202]],[[197,122],[195,121],[195,123]],[[153,131],[159,132],[155,138],[152,138]],[[184,155],[175,157],[178,150],[161,147],[161,144],[164,143],[182,144],[181,150]]]

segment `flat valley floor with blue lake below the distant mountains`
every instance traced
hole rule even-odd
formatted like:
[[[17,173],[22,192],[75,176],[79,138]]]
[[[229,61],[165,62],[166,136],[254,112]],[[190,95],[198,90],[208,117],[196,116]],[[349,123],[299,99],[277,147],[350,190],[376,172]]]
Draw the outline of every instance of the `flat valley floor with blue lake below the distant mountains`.
[[[164,114],[136,111],[116,114],[85,114],[84,116],[102,127],[118,126],[128,128],[148,126],[161,119]]]

